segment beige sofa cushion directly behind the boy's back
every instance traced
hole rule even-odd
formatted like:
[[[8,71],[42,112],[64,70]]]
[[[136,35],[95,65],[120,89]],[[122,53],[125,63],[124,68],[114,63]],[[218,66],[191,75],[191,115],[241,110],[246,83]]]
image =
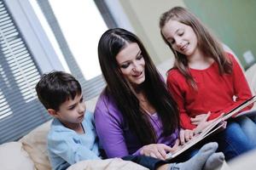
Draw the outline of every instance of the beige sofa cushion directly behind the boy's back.
[[[49,122],[32,130],[20,142],[23,144],[24,150],[27,151],[38,170],[51,169],[47,152],[47,134],[50,127]]]

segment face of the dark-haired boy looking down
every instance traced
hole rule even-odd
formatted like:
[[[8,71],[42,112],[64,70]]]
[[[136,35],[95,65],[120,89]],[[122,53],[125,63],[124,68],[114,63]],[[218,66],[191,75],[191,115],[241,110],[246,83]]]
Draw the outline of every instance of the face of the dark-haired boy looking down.
[[[59,111],[55,112],[58,118],[67,127],[79,124],[84,120],[85,104],[83,95],[76,95],[74,99],[68,99],[60,105]]]

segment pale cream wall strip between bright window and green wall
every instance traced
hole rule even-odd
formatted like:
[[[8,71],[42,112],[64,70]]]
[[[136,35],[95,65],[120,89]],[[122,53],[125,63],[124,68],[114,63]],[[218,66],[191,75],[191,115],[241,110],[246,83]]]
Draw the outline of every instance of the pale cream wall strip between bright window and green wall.
[[[143,41],[156,65],[173,59],[172,51],[160,37],[160,14],[175,6],[183,6],[183,0],[119,0],[135,33]]]

